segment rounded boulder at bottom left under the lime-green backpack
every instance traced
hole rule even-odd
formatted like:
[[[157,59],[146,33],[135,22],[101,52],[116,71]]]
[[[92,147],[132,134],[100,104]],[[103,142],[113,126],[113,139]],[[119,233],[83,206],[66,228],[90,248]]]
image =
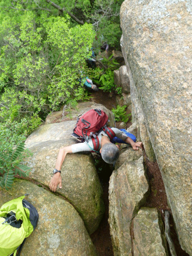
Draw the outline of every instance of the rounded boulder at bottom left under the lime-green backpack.
[[[21,256],[96,256],[83,221],[70,203],[31,182],[17,180],[11,190],[0,189],[0,205],[29,194],[26,200],[38,210],[34,232],[26,238]]]

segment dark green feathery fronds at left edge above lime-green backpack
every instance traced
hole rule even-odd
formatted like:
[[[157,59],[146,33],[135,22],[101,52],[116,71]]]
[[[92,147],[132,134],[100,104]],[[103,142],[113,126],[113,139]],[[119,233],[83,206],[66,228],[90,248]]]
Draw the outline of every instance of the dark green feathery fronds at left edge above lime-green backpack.
[[[20,142],[10,152],[3,151],[0,155],[0,186],[2,188],[10,189],[14,182],[14,176],[18,174],[20,177],[29,176],[30,168],[22,165],[21,157],[22,152],[25,150],[25,143]]]

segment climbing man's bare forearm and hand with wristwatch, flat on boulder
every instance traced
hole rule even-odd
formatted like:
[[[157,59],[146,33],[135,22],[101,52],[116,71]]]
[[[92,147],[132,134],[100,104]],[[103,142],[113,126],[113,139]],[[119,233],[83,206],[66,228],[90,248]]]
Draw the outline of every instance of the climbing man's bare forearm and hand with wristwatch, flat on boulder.
[[[66,147],[60,148],[58,156],[57,156],[57,161],[55,164],[55,168],[57,170],[59,170],[59,171],[61,170],[62,163],[65,160],[66,154],[68,154],[68,153],[72,153],[71,146],[66,146]],[[61,174],[59,172],[55,173],[53,175],[53,177],[51,178],[50,183],[49,183],[49,188],[51,191],[55,192],[58,185],[59,185],[59,188],[62,188],[62,178],[61,178]]]

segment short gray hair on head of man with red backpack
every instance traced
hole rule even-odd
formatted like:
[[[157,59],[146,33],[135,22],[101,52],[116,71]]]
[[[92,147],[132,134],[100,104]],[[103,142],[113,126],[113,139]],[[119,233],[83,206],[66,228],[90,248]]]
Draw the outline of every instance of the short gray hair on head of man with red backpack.
[[[106,143],[102,146],[101,156],[108,164],[113,164],[119,158],[119,149],[113,143]]]

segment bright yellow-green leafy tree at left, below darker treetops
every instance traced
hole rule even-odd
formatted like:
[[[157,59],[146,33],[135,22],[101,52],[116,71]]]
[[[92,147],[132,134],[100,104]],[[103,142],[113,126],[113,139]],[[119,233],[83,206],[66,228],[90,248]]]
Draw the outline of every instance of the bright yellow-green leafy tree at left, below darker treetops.
[[[15,29],[11,16],[2,18],[0,31],[6,27],[6,35],[0,42],[0,121],[6,126],[22,123],[22,132],[29,134],[42,113],[57,110],[69,98],[86,97],[78,78],[80,70],[86,74],[94,31],[87,23],[71,26],[69,16],[22,14],[14,21]]]

